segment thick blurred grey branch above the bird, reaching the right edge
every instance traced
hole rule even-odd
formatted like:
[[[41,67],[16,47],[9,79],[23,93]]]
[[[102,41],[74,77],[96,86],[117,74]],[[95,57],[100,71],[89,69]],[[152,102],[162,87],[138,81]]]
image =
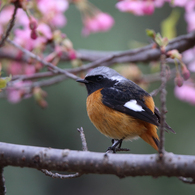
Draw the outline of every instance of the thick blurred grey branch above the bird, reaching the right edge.
[[[125,62],[149,62],[159,60],[161,51],[158,48],[153,48],[154,44],[147,45],[138,49],[131,49],[127,51],[89,51],[78,50],[78,58],[81,60],[95,61],[106,56],[115,55],[112,63],[125,63]],[[179,52],[186,51],[195,46],[195,32],[186,35],[181,35],[172,39],[166,47],[166,51],[177,49]],[[111,62],[110,62],[111,63]]]

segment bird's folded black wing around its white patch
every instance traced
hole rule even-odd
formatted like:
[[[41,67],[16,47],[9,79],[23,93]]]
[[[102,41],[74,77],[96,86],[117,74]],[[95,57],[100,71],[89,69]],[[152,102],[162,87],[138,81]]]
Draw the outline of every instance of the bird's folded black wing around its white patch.
[[[136,93],[131,93],[127,89],[109,87],[102,89],[101,94],[104,105],[134,118],[159,126],[157,116],[144,104],[144,100],[142,99],[143,95],[149,95],[144,90],[140,89],[139,91],[136,90]],[[135,111],[125,107],[125,103],[130,100],[136,100],[137,104],[143,108],[143,111]]]

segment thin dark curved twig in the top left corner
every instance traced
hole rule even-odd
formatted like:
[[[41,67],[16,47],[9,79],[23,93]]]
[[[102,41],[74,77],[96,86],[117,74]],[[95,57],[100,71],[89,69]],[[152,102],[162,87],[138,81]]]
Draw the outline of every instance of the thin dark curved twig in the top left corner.
[[[8,38],[13,26],[14,26],[14,22],[15,22],[15,18],[16,18],[16,13],[17,13],[17,9],[18,9],[18,6],[19,6],[19,2],[16,1],[14,3],[15,7],[14,7],[14,13],[12,15],[12,18],[10,20],[10,24],[9,24],[9,27],[7,29],[7,31],[5,32],[5,35],[2,36],[2,39],[0,41],[0,47],[3,46],[3,44],[5,43],[6,39]]]

